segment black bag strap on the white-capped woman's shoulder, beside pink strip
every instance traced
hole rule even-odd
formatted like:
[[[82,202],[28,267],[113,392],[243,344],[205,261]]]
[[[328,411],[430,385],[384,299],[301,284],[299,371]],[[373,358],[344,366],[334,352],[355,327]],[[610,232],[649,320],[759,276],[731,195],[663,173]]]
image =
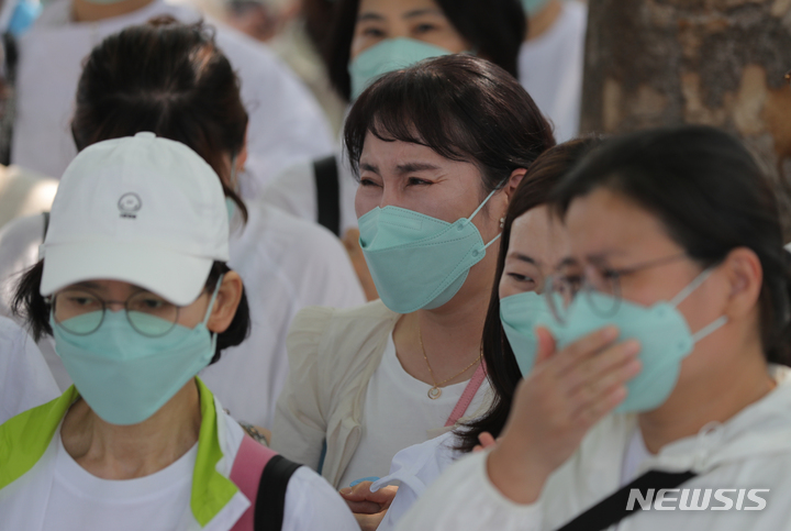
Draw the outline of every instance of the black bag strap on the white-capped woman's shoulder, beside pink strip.
[[[300,464],[293,463],[282,455],[275,455],[264,467],[255,511],[253,528],[255,531],[280,531],[286,509],[286,489],[291,476]]]

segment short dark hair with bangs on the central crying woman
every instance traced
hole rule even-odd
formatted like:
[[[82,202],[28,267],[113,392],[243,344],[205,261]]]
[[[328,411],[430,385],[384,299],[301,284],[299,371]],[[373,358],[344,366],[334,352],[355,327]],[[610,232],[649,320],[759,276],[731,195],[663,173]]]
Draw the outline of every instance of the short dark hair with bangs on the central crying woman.
[[[552,126],[519,81],[471,55],[446,55],[391,71],[357,98],[344,129],[357,176],[368,132],[476,164],[484,193],[555,145]]]

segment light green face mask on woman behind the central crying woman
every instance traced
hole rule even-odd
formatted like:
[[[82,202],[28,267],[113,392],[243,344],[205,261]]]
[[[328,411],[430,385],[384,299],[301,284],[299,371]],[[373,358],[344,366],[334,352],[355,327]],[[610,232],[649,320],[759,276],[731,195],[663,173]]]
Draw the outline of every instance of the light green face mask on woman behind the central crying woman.
[[[352,100],[356,100],[379,76],[441,55],[450,55],[450,52],[414,38],[388,38],[371,46],[349,64]]]

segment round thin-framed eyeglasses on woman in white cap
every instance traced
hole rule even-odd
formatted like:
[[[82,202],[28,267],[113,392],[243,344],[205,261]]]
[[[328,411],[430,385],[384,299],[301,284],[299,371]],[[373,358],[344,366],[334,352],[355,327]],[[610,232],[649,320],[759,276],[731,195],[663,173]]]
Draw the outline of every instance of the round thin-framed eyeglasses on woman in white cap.
[[[86,289],[65,289],[52,297],[55,323],[76,335],[88,335],[101,327],[108,305],[123,305],[132,328],[148,338],[159,338],[172,330],[178,320],[179,307],[158,295],[140,291],[125,301],[103,300]]]

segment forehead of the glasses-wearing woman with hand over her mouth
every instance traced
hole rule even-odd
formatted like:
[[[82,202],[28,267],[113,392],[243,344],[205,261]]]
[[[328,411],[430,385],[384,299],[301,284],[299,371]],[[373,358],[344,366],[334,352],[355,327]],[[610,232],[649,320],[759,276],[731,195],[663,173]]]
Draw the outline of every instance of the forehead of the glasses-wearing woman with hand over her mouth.
[[[673,245],[656,215],[605,188],[573,199],[566,226],[571,253],[578,258],[639,255],[656,246]]]

